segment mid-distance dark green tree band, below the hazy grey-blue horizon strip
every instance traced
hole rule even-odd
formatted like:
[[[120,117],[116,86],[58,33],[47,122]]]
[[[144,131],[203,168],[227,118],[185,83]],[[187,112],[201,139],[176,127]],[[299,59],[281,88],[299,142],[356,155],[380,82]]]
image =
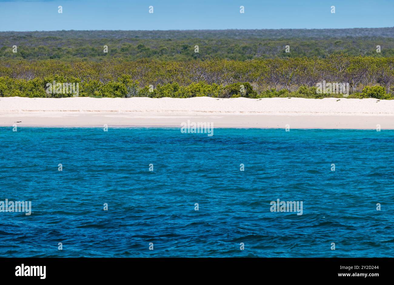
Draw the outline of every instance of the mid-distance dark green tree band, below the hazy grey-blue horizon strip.
[[[77,32],[77,31],[76,31]],[[165,31],[162,31],[165,32]],[[74,35],[75,37],[77,36]],[[16,49],[14,48],[16,46]],[[108,52],[104,52],[107,46]],[[196,49],[198,46],[198,49]],[[287,52],[286,47],[288,46]],[[378,47],[379,46],[379,47]],[[16,51],[16,52],[15,52]],[[101,61],[108,58],[160,60],[251,60],[260,58],[349,56],[394,56],[393,37],[355,38],[65,38],[7,36],[0,33],[1,59],[58,59]]]

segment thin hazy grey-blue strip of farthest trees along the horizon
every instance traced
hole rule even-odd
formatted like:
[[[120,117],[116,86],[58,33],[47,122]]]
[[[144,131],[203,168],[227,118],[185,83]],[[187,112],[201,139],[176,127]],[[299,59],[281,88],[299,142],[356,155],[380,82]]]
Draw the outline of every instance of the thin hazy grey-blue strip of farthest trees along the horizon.
[[[64,39],[327,39],[327,38],[393,38],[394,27],[348,29],[227,29],[227,30],[61,30],[31,32],[0,32],[0,37]]]

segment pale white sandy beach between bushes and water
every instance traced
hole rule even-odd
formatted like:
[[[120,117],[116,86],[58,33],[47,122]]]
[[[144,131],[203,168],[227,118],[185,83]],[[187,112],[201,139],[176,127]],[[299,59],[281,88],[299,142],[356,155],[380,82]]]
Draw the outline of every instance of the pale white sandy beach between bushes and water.
[[[175,126],[394,129],[394,100],[0,98],[0,126]]]

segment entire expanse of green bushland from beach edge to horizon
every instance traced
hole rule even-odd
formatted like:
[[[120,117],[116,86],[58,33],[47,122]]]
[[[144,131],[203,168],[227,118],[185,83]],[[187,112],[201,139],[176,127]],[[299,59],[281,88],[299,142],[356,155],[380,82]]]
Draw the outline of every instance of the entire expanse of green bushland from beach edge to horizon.
[[[48,95],[53,81],[95,97],[342,97],[317,94],[326,81],[392,99],[394,28],[0,32],[0,96],[72,96]]]

